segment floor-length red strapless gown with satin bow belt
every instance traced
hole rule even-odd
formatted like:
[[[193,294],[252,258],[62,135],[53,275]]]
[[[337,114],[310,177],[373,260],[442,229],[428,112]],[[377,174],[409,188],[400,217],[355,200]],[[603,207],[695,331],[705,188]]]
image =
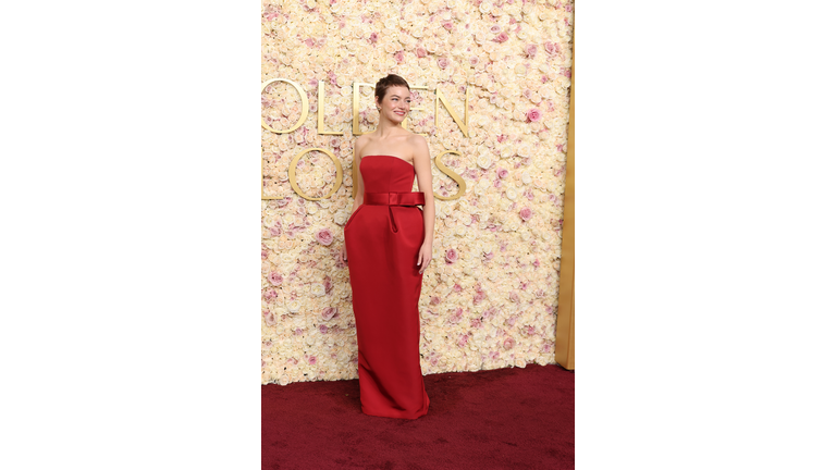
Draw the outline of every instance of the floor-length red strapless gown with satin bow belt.
[[[360,159],[362,205],[345,224],[357,325],[362,412],[416,419],[427,415],[418,342],[423,274],[423,193],[411,193],[415,169],[392,156]]]

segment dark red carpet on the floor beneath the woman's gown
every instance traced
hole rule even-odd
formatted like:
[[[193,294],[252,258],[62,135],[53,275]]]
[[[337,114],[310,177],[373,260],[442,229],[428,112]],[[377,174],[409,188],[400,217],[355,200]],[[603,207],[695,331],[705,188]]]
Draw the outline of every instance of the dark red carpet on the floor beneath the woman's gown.
[[[263,469],[571,469],[575,373],[528,364],[425,375],[417,420],[360,412],[356,380],[261,387]]]

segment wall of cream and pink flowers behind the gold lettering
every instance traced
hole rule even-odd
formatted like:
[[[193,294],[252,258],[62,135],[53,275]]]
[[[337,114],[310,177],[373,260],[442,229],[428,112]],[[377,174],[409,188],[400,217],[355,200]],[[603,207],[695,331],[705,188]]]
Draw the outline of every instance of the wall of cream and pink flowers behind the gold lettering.
[[[435,199],[433,262],[421,300],[425,374],[554,363],[563,181],[571,64],[573,3],[558,0],[266,0],[262,83],[302,85],[309,113],[295,131],[262,129],[262,383],[357,378],[348,268],[340,258],[352,210],[352,84],[389,73],[415,89],[408,128],[427,135],[431,156],[466,182],[457,199]],[[324,82],[324,129],[317,126]],[[372,131],[373,89],[360,87],[359,123]],[[435,91],[464,119],[466,137]],[[262,119],[290,129],[302,116],[298,92],[274,83]],[[415,110],[422,108],[422,110]],[[330,157],[291,160],[327,148]],[[434,189],[457,184],[433,164]],[[415,186],[417,190],[417,185]]]

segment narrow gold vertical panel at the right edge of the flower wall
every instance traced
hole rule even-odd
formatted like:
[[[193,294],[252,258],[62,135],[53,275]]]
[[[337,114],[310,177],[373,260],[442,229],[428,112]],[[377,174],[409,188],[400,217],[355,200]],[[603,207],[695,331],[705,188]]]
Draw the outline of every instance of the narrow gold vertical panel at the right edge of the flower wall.
[[[577,15],[575,16],[577,20]],[[554,359],[575,370],[575,27],[571,29],[571,88],[569,91],[569,138],[566,149],[566,185],[563,199],[563,243],[557,295],[557,326]]]

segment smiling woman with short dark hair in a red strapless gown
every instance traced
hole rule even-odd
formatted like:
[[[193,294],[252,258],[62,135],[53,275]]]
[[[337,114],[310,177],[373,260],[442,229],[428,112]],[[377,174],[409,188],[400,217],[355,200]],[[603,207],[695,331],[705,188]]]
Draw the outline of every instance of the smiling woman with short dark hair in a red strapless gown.
[[[343,247],[357,324],[360,404],[366,415],[416,419],[430,405],[418,350],[418,298],[435,223],[430,149],[401,125],[411,101],[405,79],[381,78],[374,101],[378,128],[354,145],[359,178]],[[411,191],[416,176],[419,193]]]

